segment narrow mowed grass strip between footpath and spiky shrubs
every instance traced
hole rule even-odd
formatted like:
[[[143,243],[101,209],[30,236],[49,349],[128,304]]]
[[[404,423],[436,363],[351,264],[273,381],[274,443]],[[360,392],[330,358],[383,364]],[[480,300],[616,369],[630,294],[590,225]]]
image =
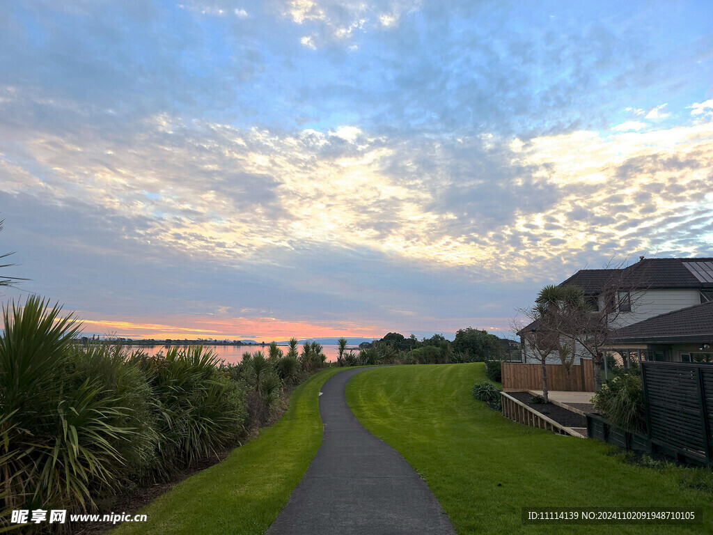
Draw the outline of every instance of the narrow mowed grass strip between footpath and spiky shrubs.
[[[182,481],[112,534],[264,534],[322,442],[319,389],[347,368],[329,368],[299,385],[289,409],[225,461]],[[132,511],[133,514],[133,511]]]

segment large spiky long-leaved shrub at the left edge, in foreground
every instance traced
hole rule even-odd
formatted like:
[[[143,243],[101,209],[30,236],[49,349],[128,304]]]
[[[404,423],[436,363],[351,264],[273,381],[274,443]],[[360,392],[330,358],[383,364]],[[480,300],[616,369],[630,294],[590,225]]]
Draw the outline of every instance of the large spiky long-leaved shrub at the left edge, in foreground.
[[[87,377],[88,367],[71,352],[78,324],[48,305],[29,297],[24,307],[3,309],[0,488],[11,509],[94,509],[96,497],[116,489],[127,474],[122,452],[134,453],[132,409],[118,391],[125,387],[140,399],[141,387],[113,388]],[[133,380],[128,374],[120,379]]]

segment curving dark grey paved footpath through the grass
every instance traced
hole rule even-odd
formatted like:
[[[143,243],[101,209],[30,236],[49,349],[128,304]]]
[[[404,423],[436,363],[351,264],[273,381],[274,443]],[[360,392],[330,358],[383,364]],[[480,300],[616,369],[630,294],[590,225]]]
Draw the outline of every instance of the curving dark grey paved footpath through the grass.
[[[349,409],[344,388],[364,370],[322,386],[322,445],[267,535],[455,535],[425,481]]]

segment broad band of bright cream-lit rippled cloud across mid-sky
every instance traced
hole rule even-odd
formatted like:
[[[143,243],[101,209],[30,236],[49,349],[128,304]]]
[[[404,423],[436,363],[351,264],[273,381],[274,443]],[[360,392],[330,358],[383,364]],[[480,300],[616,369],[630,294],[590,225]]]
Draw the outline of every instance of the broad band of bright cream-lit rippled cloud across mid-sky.
[[[62,203],[81,191],[140,220],[135,238],[221,262],[279,262],[281,250],[339,243],[506,280],[527,277],[533,263],[555,270],[551,259],[590,247],[657,248],[667,217],[704,210],[712,140],[712,122],[523,141],[355,126],[287,132],[160,114],[120,137],[36,131],[26,159],[3,165],[14,193]],[[33,169],[43,179],[26,182]],[[706,245],[692,234],[686,247]]]

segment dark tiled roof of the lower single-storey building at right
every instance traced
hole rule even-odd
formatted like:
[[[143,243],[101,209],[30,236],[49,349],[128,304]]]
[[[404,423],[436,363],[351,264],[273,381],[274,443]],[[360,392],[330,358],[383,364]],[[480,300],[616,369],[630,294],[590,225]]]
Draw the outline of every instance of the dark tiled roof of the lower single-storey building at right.
[[[673,340],[683,337],[713,338],[713,301],[674,310],[648,320],[627,325],[614,333],[616,342],[626,340]]]

